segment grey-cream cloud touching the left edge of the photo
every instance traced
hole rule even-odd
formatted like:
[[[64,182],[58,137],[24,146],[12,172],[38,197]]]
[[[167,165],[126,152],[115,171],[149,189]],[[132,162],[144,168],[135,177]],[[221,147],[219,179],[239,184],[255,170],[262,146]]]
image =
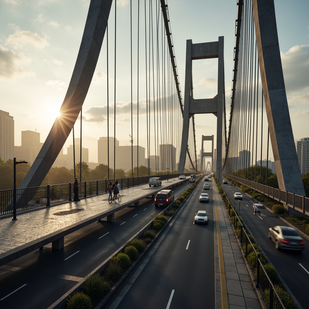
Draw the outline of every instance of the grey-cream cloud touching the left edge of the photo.
[[[28,65],[31,59],[23,53],[15,53],[11,49],[7,49],[0,45],[0,78],[15,79],[24,76],[32,76],[35,73],[26,70],[23,66]]]

